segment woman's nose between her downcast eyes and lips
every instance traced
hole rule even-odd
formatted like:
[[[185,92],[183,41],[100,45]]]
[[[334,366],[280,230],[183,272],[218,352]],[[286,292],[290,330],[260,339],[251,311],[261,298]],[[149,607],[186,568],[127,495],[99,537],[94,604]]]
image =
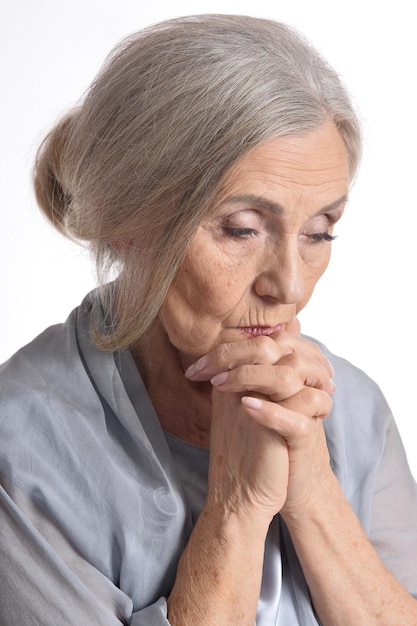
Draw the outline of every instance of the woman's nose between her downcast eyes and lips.
[[[262,298],[273,298],[281,304],[295,304],[304,297],[303,261],[298,243],[289,240],[265,259],[255,281],[255,291]]]

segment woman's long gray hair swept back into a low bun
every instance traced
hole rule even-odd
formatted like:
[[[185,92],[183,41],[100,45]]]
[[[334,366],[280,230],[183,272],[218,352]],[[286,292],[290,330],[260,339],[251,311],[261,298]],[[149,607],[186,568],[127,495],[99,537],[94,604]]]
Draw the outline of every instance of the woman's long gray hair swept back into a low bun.
[[[82,104],[46,137],[38,203],[61,232],[116,266],[116,323],[102,349],[134,345],[166,297],[230,167],[264,140],[337,127],[354,176],[361,137],[335,71],[292,28],[197,15],[127,37]]]

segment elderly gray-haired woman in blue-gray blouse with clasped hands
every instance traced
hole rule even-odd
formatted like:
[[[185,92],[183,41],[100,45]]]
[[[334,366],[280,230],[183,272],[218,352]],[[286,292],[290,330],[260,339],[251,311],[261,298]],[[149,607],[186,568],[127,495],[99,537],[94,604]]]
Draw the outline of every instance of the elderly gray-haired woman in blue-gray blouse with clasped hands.
[[[129,37],[51,131],[39,205],[116,274],[2,368],[2,624],[417,623],[394,421],[297,322],[359,154],[317,52],[231,15]]]

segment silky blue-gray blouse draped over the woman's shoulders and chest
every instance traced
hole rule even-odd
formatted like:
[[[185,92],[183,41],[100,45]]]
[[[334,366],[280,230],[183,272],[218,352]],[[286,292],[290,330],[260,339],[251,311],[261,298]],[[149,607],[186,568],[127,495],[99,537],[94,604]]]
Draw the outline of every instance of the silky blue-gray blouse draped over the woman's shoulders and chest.
[[[0,367],[0,623],[166,626],[209,452],[164,433],[129,351],[103,353],[94,293]],[[417,486],[379,388],[330,354],[333,469],[417,598]],[[161,387],[163,382],[161,381]],[[291,538],[266,541],[257,626],[317,625]]]

